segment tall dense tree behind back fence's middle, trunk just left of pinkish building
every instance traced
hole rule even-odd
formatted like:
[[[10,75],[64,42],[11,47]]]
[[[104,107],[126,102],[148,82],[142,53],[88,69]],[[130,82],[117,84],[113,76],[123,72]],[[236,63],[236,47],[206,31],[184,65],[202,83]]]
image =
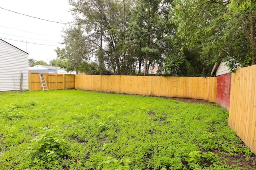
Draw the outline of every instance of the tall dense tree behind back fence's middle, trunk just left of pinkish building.
[[[164,34],[167,22],[164,22],[162,10],[168,4],[168,1],[162,0],[138,0],[134,10],[133,22],[130,23],[133,35],[136,37],[138,51],[144,55],[138,54],[139,72],[142,58],[144,60],[144,75],[148,73],[149,66],[162,56],[158,46],[158,41]]]

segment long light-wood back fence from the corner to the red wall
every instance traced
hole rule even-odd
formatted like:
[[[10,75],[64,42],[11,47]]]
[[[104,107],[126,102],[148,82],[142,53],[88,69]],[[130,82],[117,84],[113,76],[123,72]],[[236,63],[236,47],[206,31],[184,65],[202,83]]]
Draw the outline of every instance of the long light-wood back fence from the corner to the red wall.
[[[76,75],[75,89],[192,98],[216,102],[215,77]]]

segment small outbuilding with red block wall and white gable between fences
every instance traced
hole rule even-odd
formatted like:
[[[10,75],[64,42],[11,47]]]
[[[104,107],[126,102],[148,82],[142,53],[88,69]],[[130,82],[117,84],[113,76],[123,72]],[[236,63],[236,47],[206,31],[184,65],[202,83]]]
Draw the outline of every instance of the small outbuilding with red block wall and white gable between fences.
[[[216,63],[212,68],[211,75],[217,77],[217,98],[216,102],[229,111],[231,74],[226,62]]]

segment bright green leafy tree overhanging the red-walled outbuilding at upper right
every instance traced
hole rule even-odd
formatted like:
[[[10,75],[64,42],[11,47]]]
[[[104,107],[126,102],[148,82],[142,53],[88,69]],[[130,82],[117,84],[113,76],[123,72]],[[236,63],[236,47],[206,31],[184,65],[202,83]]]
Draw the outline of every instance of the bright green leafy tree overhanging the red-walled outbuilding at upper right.
[[[227,61],[232,71],[254,64],[254,20],[250,20],[252,1],[246,6],[249,1],[175,0],[173,16],[184,46],[197,49],[209,67],[219,60]]]

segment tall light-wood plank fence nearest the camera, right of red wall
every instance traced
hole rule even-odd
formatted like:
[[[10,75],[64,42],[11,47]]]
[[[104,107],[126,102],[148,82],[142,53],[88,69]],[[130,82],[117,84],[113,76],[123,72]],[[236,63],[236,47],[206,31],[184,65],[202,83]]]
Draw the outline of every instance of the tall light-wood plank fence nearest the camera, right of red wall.
[[[256,153],[256,65],[236,70],[231,78],[228,125]]]

